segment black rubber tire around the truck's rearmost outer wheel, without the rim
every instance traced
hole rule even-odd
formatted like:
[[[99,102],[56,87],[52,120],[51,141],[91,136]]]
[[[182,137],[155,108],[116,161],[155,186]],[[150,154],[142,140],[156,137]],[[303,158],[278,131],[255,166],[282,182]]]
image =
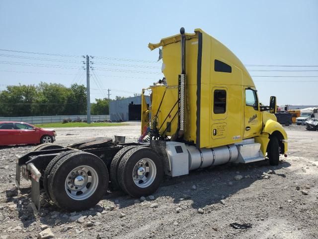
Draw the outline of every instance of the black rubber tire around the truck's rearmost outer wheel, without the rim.
[[[74,169],[79,166],[91,167],[97,175],[98,183],[92,194],[85,199],[72,199],[66,191],[66,180]],[[62,157],[52,168],[48,178],[48,189],[52,201],[61,209],[67,211],[81,211],[95,206],[108,188],[108,170],[104,162],[94,154],[74,152]],[[91,174],[92,175],[92,174]],[[96,179],[95,179],[96,180]],[[87,183],[89,188],[93,183]]]

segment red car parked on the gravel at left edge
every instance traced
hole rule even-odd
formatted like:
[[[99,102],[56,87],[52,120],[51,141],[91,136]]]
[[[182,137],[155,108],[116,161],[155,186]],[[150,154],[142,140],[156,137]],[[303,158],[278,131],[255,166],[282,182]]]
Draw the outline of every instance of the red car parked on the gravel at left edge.
[[[56,132],[25,122],[0,121],[0,145],[53,143]]]

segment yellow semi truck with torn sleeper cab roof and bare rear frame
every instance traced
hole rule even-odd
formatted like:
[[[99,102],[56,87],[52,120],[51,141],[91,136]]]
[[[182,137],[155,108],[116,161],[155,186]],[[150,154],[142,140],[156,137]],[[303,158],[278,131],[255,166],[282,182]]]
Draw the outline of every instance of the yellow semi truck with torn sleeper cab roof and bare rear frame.
[[[267,158],[277,165],[286,156],[276,98],[268,107],[259,103],[250,75],[227,47],[201,29],[190,34],[184,28],[149,44],[151,50],[159,47],[165,80],[142,91],[139,142],[47,144],[17,159],[16,184],[22,171],[37,208],[42,188],[57,206],[79,211],[94,206],[109,188],[147,196],[164,175]]]

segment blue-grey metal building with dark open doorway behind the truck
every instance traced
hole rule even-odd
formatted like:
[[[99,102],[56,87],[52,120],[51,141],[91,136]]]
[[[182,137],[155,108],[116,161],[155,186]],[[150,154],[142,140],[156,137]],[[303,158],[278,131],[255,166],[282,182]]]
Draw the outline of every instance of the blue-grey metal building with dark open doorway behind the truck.
[[[146,96],[146,102],[150,104],[149,96]],[[109,115],[112,121],[141,120],[141,96],[111,101]]]

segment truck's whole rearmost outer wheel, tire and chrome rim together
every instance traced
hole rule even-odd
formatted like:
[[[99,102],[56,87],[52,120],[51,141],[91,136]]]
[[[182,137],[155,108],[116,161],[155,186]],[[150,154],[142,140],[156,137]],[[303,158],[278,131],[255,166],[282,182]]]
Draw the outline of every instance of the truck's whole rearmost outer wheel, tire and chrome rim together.
[[[95,206],[108,188],[108,170],[97,156],[74,152],[62,157],[52,168],[48,190],[52,201],[68,211]]]

